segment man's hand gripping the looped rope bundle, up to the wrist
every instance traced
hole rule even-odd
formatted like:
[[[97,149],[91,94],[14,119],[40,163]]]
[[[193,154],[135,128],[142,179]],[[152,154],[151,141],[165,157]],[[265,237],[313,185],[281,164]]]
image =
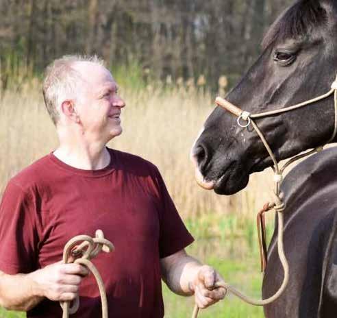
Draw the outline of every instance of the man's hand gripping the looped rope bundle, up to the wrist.
[[[79,264],[56,262],[27,274],[34,282],[34,293],[53,301],[71,301],[79,291],[79,284],[89,273]]]

